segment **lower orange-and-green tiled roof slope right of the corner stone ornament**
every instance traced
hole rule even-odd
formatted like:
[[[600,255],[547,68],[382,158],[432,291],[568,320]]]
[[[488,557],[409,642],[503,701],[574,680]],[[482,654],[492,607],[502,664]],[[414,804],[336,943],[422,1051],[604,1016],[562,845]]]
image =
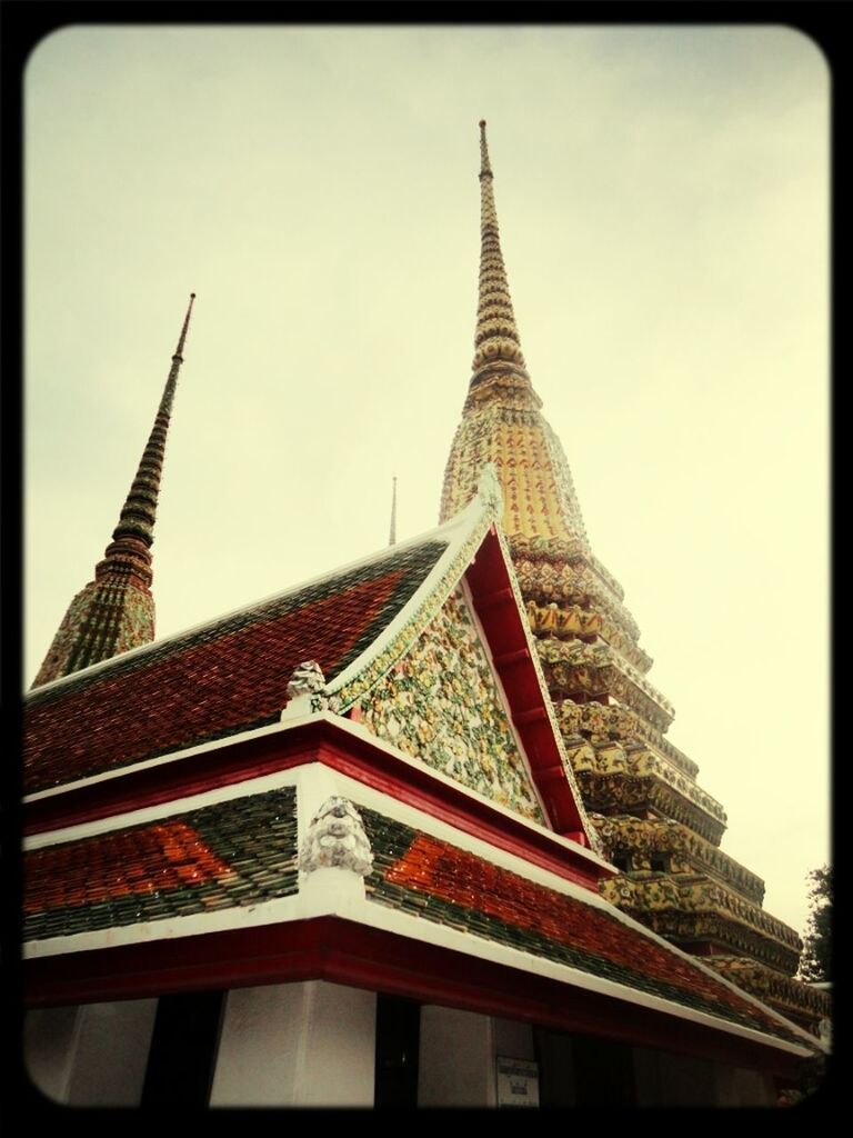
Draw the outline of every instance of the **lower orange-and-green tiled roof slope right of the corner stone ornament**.
[[[697,1012],[802,1044],[713,975],[606,909],[358,807],[374,901],[565,964]]]

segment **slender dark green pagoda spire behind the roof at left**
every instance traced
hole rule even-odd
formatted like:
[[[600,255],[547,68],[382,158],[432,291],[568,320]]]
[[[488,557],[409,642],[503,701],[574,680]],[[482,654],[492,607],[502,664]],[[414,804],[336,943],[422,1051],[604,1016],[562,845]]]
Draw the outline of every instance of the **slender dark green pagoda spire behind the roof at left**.
[[[151,544],[172,404],[196,294],[184,316],[166,387],[113,541],[57,630],[33,687],[154,640]]]

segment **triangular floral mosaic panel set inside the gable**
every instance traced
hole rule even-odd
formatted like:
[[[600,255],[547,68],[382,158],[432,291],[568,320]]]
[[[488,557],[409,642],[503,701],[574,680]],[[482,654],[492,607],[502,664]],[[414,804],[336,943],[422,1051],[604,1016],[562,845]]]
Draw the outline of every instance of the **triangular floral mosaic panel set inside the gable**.
[[[491,666],[461,589],[361,703],[364,726],[407,754],[543,823]]]

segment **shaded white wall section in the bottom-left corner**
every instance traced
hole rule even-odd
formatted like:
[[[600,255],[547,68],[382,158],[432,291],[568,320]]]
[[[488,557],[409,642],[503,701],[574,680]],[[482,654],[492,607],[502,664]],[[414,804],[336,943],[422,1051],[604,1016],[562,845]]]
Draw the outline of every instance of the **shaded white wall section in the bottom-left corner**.
[[[156,1014],[156,999],[28,1012],[24,1062],[34,1086],[71,1106],[138,1106]]]

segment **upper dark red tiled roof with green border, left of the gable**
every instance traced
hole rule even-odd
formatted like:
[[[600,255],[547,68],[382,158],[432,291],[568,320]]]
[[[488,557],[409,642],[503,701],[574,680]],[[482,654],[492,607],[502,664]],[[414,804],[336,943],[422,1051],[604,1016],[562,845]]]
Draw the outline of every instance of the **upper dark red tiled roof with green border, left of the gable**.
[[[28,793],[275,723],[304,660],[333,679],[446,549],[395,546],[218,621],[36,688],[24,709]]]

